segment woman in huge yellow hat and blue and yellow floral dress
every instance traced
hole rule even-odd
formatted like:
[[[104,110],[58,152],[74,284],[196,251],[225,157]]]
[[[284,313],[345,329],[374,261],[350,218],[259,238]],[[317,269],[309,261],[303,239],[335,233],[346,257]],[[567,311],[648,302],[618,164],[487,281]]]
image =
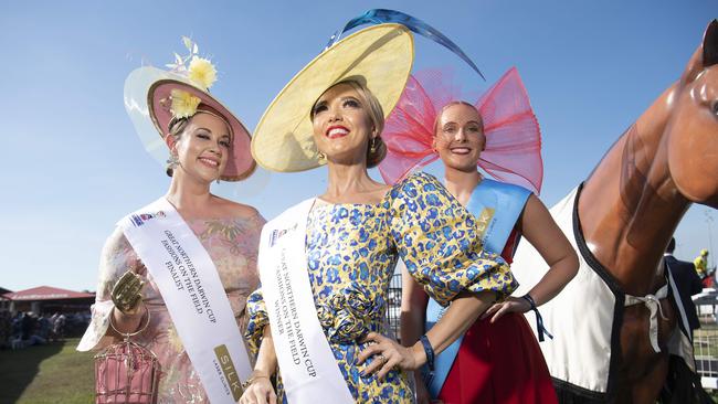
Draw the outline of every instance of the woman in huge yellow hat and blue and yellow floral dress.
[[[517,286],[435,178],[418,173],[388,187],[367,173],[386,153],[384,117],[412,61],[403,25],[359,31],[309,63],[262,117],[252,140],[257,163],[285,172],[326,164],[328,187],[262,231],[262,289],[247,302],[246,332],[258,357],[241,403],[277,395],[288,403],[412,402],[404,371],[431,370],[435,353]],[[410,348],[384,337],[399,257],[429,295],[453,301]]]

